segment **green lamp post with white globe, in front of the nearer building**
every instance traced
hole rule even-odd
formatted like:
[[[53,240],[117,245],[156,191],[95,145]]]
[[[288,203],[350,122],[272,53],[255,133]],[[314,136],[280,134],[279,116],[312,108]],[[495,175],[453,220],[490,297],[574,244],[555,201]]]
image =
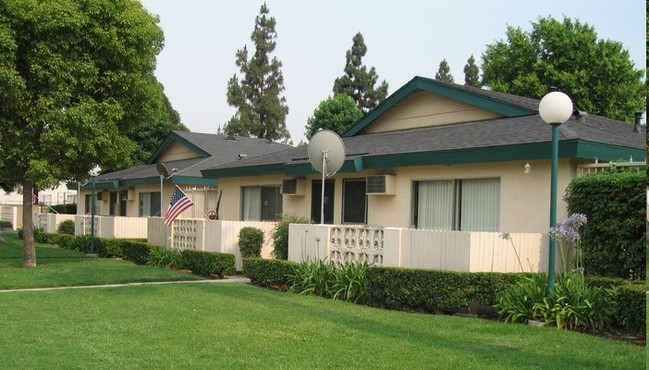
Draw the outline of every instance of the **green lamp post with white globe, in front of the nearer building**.
[[[553,91],[541,99],[539,104],[541,119],[552,126],[552,163],[550,173],[550,228],[557,225],[557,177],[559,167],[559,126],[572,115],[572,101],[568,95]],[[550,235],[548,261],[548,290],[554,289],[554,260],[557,241]]]

